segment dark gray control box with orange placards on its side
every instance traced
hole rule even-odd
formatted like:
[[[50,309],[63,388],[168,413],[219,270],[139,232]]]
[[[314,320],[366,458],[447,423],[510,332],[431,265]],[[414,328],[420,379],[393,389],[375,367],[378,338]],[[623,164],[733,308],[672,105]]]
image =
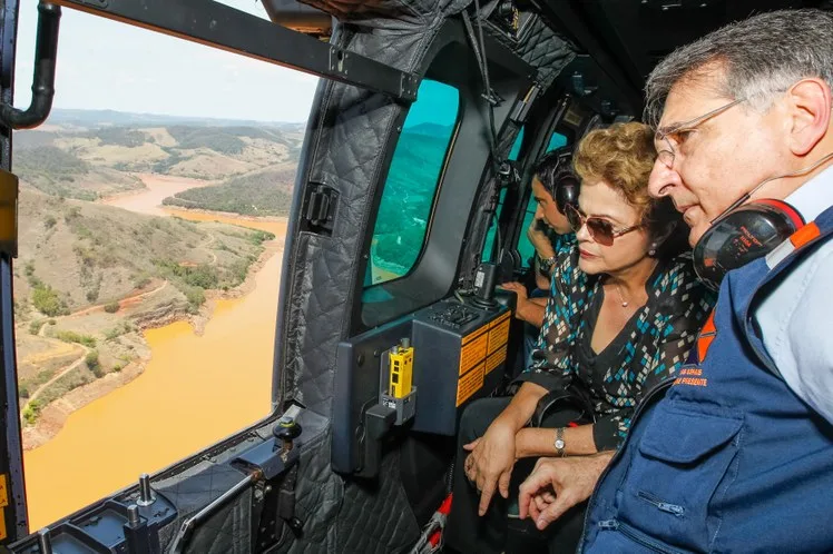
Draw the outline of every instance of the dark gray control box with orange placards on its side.
[[[413,429],[454,435],[462,409],[501,383],[511,313],[449,299],[414,314]]]

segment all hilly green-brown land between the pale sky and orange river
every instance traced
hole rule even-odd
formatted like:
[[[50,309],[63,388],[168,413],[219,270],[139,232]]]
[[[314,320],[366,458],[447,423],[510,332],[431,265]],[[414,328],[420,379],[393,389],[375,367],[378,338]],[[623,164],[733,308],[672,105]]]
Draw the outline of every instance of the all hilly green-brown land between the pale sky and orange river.
[[[141,372],[144,329],[188,320],[199,333],[213,299],[245,293],[283,237],[244,219],[287,215],[302,141],[296,123],[84,110],[56,110],[48,125],[16,133],[27,448],[60,428],[42,417],[50,403],[107,382],[89,390],[95,399]],[[232,217],[188,220],[199,212]]]

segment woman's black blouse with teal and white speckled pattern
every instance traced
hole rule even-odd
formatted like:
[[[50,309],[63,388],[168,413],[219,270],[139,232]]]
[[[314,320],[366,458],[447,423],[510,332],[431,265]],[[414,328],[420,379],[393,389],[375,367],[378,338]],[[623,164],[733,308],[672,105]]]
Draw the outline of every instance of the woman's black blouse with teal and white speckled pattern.
[[[590,339],[605,297],[600,276],[578,268],[572,245],[557,256],[533,362],[518,380],[553,390],[579,379],[596,408],[596,448],[617,448],[643,396],[685,362],[715,296],[697,280],[688,254],[660,260],[646,283],[648,301],[596,354]]]

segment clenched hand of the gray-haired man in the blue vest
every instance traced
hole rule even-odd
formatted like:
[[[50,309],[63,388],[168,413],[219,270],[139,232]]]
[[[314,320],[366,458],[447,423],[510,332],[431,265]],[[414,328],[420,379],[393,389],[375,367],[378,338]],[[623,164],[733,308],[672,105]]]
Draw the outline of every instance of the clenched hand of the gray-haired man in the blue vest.
[[[612,452],[592,456],[541,458],[520,486],[520,516],[543,530],[592,494]],[[553,494],[555,493],[555,494]]]

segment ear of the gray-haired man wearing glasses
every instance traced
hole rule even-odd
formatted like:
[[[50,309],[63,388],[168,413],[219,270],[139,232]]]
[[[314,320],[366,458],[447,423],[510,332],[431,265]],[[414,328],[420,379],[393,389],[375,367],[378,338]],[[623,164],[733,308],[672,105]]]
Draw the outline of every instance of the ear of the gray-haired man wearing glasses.
[[[827,133],[832,106],[830,86],[819,78],[802,79],[786,96],[792,119],[790,149],[795,156],[805,156]]]

